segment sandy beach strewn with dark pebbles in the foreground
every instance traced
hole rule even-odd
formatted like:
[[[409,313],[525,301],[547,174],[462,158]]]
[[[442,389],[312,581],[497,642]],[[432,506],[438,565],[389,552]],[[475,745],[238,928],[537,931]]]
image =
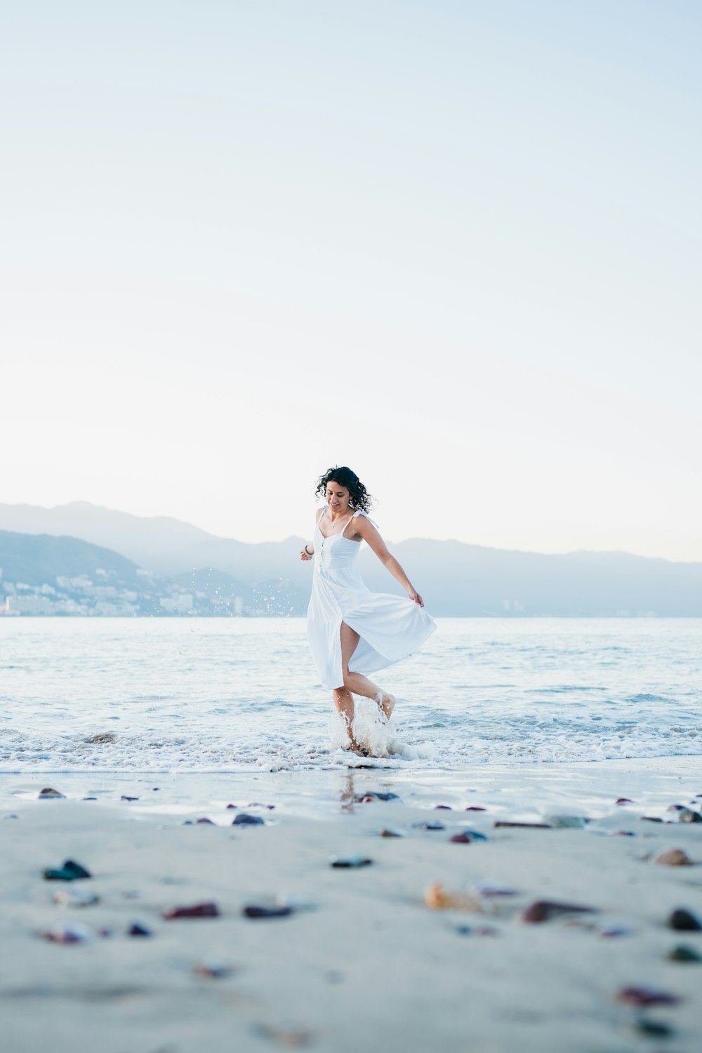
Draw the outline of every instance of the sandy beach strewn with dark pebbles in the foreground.
[[[668,809],[699,811],[700,774],[5,775],[3,1048],[697,1053],[702,931],[670,916],[702,923],[702,822]],[[65,796],[38,799],[48,787]],[[544,826],[496,826],[512,821]],[[655,861],[676,849],[691,865]],[[92,876],[43,876],[66,860]],[[216,916],[166,917],[203,903]]]

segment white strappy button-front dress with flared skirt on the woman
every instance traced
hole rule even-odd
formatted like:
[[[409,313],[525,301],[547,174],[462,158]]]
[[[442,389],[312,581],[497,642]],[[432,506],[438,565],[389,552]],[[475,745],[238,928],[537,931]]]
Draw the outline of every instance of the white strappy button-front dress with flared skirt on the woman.
[[[326,510],[320,522],[325,514]],[[388,593],[372,593],[363,583],[356,565],[361,545],[345,537],[348,524],[357,516],[365,516],[365,512],[355,512],[344,529],[329,537],[324,537],[319,523],[315,530],[307,640],[319,678],[330,689],[342,688],[344,682],[342,621],[361,637],[348,662],[348,671],[364,675],[407,658],[437,628],[434,619],[414,600]]]

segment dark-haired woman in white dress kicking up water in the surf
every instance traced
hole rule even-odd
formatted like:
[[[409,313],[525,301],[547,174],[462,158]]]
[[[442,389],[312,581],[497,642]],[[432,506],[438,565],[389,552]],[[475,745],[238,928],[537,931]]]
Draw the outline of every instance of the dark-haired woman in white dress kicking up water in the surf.
[[[320,476],[315,493],[326,498],[326,505],[317,513],[314,542],[300,552],[305,561],[317,553],[307,608],[307,640],[320,679],[333,692],[350,748],[362,752],[354,737],[353,696],[375,699],[385,720],[395,706],[393,695],[365,674],[406,658],[437,627],[423,610],[424,600],[368,518],[370,495],[356,473],[349,468],[329,469]],[[406,590],[408,600],[366,589],[356,565],[361,541],[367,541]]]

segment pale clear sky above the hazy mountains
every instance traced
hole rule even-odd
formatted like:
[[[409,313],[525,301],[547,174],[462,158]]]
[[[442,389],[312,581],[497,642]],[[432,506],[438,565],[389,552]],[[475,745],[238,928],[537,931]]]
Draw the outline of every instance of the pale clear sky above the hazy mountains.
[[[696,0],[23,0],[0,501],[702,560]]]

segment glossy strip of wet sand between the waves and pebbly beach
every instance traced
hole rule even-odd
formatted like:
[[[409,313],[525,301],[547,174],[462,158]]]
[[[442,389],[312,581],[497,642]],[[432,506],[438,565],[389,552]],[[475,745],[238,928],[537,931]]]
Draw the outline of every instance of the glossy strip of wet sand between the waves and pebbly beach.
[[[356,759],[356,758],[354,758]],[[165,808],[174,814],[218,804],[232,794],[265,793],[293,813],[325,813],[335,793],[349,779],[359,786],[400,788],[403,798],[419,807],[443,801],[465,806],[481,797],[492,814],[519,812],[534,817],[540,809],[574,807],[604,814],[618,797],[635,797],[655,807],[658,798],[675,796],[677,787],[700,783],[702,759],[696,755],[640,757],[589,761],[535,761],[515,764],[477,764],[473,769],[436,769],[429,766],[395,768],[382,760],[358,758],[348,768],[246,771],[61,771],[0,772],[0,808],[32,801],[44,786],[56,784],[68,799],[96,796],[95,803],[119,804],[122,794],[138,796],[133,811],[158,815]],[[158,788],[158,789],[155,789]],[[156,797],[154,794],[161,796]],[[163,804],[164,795],[167,804]],[[469,799],[468,799],[469,798]],[[302,804],[304,802],[304,807]],[[136,802],[135,802],[136,803]],[[301,810],[302,809],[302,810]],[[180,810],[180,812],[179,812]]]

